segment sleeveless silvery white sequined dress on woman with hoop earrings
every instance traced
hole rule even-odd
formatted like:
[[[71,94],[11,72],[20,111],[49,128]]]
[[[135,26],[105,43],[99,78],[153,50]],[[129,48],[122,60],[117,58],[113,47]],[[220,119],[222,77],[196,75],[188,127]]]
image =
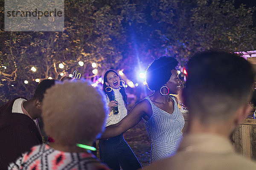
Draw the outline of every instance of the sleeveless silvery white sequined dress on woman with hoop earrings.
[[[178,108],[174,96],[171,96],[171,98],[175,103],[172,114],[158,108],[149,97],[146,97],[153,111],[150,119],[143,119],[151,141],[151,163],[173,156],[182,139],[182,129],[185,123],[184,117]]]

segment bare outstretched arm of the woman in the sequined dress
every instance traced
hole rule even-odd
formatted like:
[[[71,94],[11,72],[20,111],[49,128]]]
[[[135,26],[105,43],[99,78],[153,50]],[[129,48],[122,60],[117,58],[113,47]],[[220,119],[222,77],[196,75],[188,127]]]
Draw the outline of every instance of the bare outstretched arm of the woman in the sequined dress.
[[[124,133],[126,130],[137,125],[144,115],[148,118],[152,115],[152,108],[147,99],[138,102],[120,122],[107,126],[101,139],[111,138]]]

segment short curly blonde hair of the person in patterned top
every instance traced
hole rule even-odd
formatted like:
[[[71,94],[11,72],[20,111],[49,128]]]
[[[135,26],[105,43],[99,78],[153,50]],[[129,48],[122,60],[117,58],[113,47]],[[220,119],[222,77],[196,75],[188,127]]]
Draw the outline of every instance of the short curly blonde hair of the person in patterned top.
[[[45,132],[64,145],[92,142],[104,130],[108,113],[105,98],[84,80],[57,83],[43,100]]]

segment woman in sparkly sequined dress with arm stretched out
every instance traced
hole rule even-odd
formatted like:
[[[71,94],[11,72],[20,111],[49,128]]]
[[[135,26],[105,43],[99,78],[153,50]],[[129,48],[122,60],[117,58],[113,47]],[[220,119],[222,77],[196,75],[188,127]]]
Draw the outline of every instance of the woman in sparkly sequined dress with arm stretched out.
[[[151,141],[150,161],[158,161],[175,154],[182,139],[184,118],[178,100],[181,80],[173,57],[155,59],[146,70],[148,88],[154,94],[138,102],[130,113],[115,125],[106,127],[102,139],[124,133],[143,118]]]

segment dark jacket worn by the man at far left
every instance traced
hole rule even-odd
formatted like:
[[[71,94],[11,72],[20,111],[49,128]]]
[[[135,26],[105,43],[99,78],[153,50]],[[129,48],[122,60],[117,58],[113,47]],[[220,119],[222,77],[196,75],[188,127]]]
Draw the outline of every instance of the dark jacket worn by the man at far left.
[[[25,114],[12,113],[13,103],[18,98],[0,108],[0,170],[7,170],[9,163],[15,161],[21,153],[42,143],[35,122]]]

